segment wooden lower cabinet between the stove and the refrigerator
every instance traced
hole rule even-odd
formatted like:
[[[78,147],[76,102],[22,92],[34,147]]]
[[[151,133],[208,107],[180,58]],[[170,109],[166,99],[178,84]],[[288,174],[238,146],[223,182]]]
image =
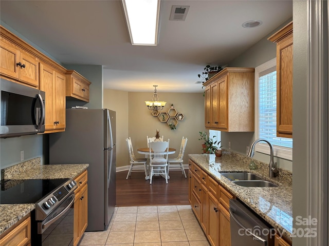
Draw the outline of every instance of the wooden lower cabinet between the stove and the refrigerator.
[[[88,226],[88,185],[87,171],[75,178],[78,188],[75,190],[74,201],[74,246],[79,244],[79,241]]]

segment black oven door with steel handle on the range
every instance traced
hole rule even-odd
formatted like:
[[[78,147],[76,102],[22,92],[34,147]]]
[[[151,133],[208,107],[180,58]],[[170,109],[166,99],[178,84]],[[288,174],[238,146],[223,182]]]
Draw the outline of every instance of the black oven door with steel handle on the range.
[[[73,245],[75,194],[68,196],[43,221],[32,226],[32,245]]]

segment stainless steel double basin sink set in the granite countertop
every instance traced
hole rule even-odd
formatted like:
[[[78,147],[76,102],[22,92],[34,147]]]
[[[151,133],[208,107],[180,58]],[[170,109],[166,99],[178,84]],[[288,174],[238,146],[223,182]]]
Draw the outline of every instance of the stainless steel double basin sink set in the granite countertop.
[[[221,173],[224,177],[231,180],[233,183],[244,187],[278,187],[275,183],[265,180],[253,173]]]

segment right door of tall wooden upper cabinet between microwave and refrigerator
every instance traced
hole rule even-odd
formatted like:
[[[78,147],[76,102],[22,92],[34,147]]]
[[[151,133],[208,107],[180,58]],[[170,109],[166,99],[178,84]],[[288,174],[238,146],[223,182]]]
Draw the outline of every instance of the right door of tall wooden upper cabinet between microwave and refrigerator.
[[[65,75],[62,73],[55,73],[55,88],[54,88],[54,108],[55,108],[55,118],[56,129],[65,129],[66,119],[65,119],[65,107],[66,107],[66,97],[65,97]]]

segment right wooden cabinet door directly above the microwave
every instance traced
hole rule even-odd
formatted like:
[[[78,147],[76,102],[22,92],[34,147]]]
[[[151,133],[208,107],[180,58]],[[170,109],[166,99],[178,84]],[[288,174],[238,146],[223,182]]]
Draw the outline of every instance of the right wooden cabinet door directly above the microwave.
[[[20,80],[26,84],[39,87],[39,60],[25,51],[20,52]]]

